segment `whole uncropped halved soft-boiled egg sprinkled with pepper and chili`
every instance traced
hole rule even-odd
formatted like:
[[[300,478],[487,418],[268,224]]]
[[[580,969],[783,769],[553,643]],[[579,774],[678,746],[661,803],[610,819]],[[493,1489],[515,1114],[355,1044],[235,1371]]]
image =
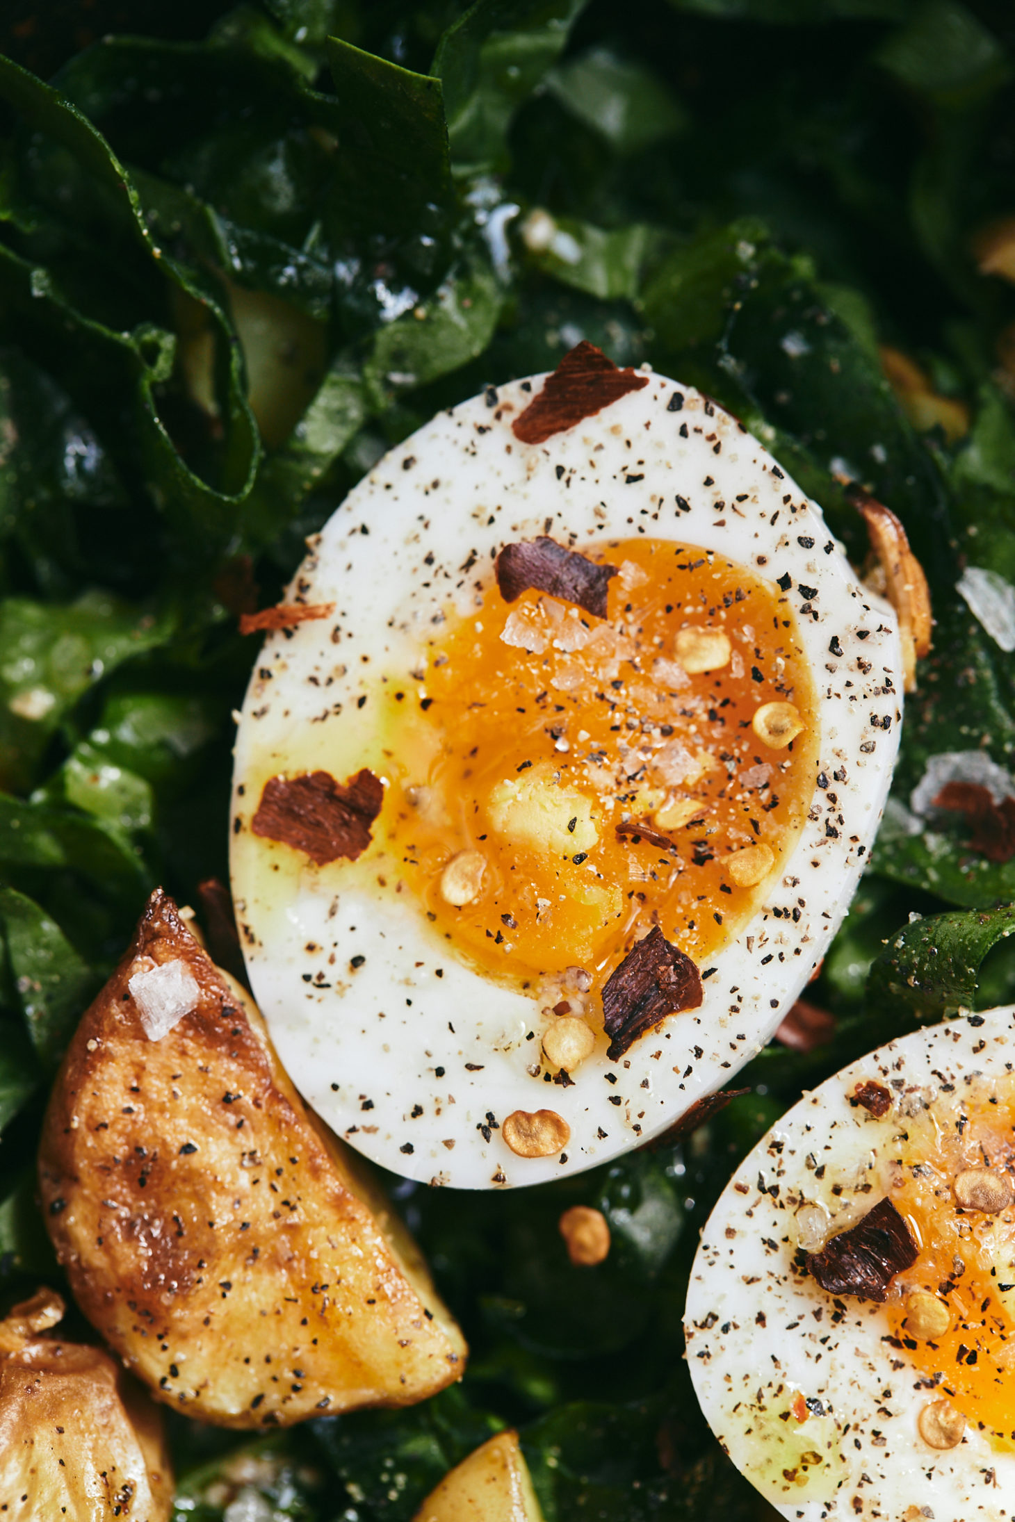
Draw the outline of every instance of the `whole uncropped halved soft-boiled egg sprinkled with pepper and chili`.
[[[385,455],[259,622],[233,890],[339,1135],[539,1183],[770,1038],[863,869],[902,677],[733,417],[581,344]]]

